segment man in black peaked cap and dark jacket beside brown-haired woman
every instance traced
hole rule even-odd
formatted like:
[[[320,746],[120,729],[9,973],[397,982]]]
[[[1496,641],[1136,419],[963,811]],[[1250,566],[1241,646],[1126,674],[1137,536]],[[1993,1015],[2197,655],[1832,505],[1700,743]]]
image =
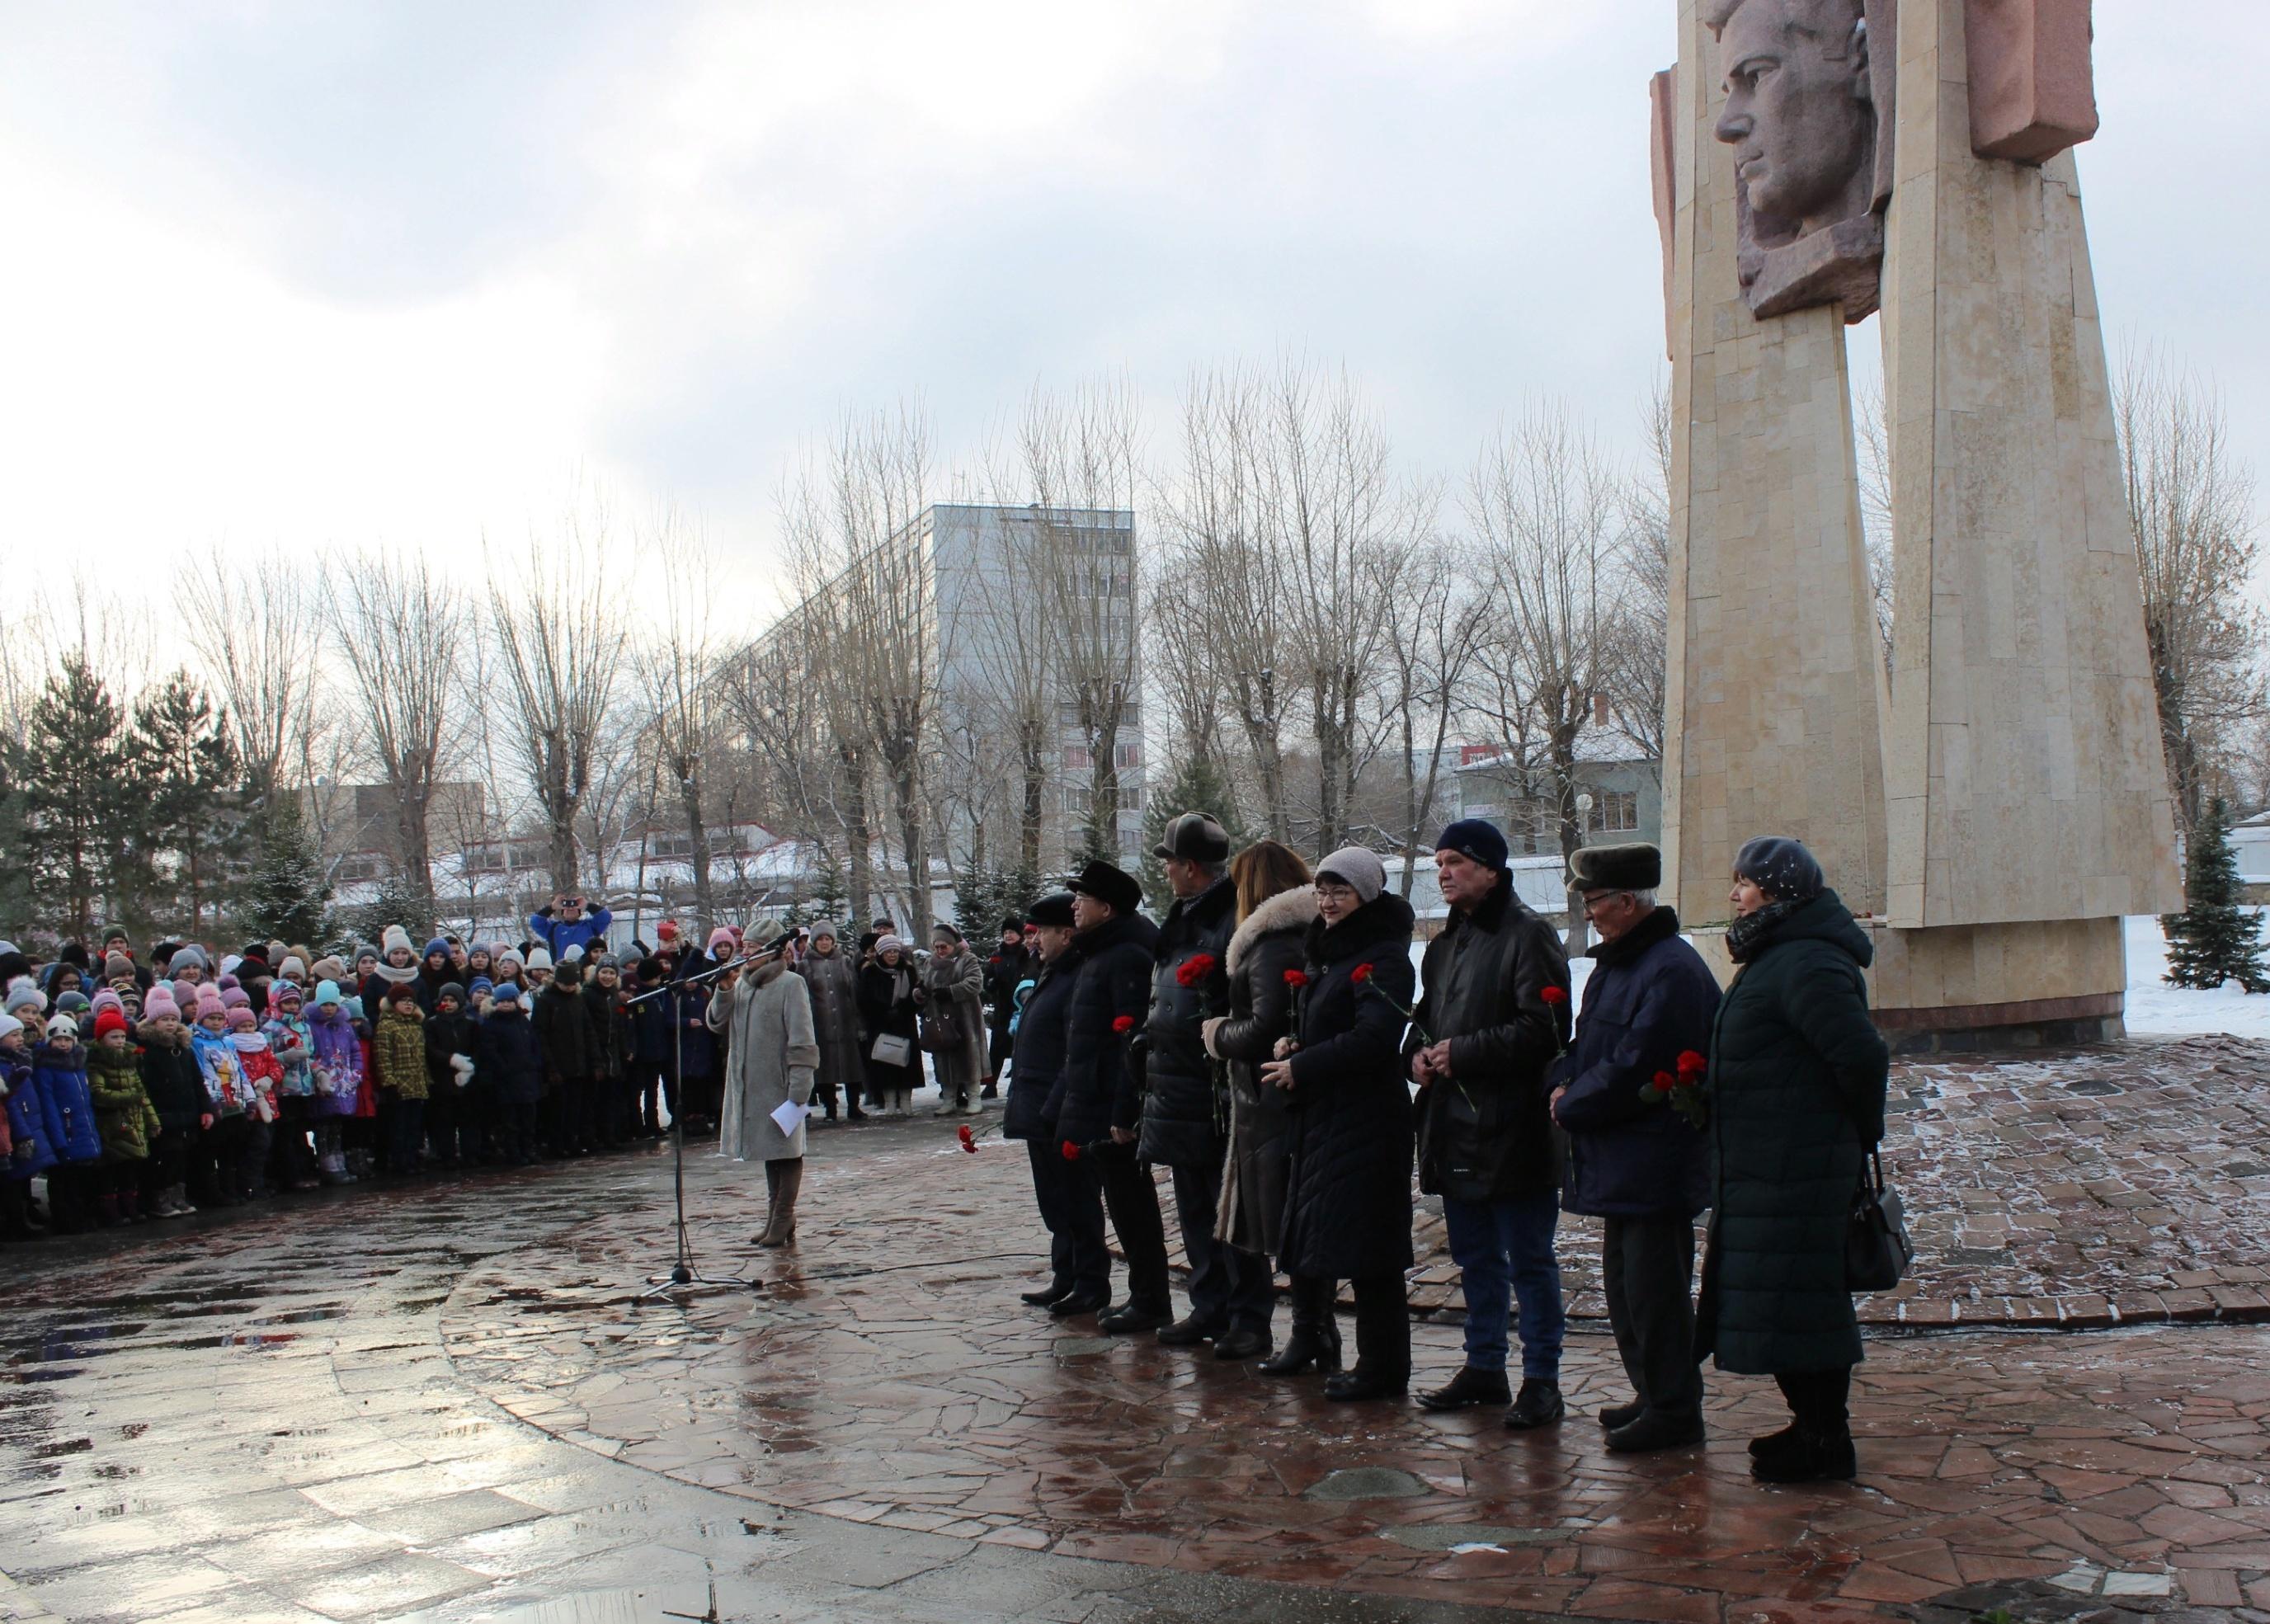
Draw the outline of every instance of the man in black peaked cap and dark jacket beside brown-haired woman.
[[[1151,1013],[1142,1031],[1142,1133],[1137,1154],[1174,1172],[1174,1211],[1189,1258],[1189,1315],[1160,1342],[1212,1340],[1214,1358],[1269,1354],[1276,1306],[1269,1261],[1214,1240],[1230,1104],[1219,1063],[1205,1054],[1205,1018],[1230,1006],[1226,956],[1237,929],[1237,886],[1226,872],[1230,836],[1205,813],[1183,813],[1151,852],[1167,868],[1174,906],[1158,931]]]

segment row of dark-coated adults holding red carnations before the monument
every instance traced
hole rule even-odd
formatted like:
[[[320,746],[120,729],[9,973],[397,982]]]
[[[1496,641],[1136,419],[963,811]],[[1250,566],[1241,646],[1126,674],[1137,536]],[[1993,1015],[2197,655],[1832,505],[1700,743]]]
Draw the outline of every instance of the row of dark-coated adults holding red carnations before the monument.
[[[1276,840],[1233,856],[1217,820],[1185,813],[1155,856],[1174,893],[1158,924],[1101,861],[1028,911],[1040,970],[1006,1133],[1028,1145],[1053,1267],[1026,1301],[1271,1376],[1319,1372],[1335,1401],[1401,1397],[1416,1163],[1466,1297],[1464,1365],[1421,1406],[1503,1406],[1516,1431],[1564,1417],[1555,1233],[1564,1211],[1587,1213],[1634,1392],[1600,1410],[1609,1449],[1700,1442],[1700,1363],[1716,1358],[1789,1399],[1791,1424],[1752,1445],[1757,1476],[1855,1474],[1843,1247],[1889,1056],[1868,1020],[1868,938],[1802,845],[1737,856],[1723,995],[1657,897],[1655,847],[1578,852],[1571,886],[1598,938],[1582,1015],[1562,940],[1514,893],[1489,822],[1437,840],[1448,924],[1419,974],[1412,909],[1364,847],[1314,868]],[[1169,1170],[1189,1263],[1180,1317],[1153,1167]],[[1105,1217],[1126,1258],[1117,1306]]]

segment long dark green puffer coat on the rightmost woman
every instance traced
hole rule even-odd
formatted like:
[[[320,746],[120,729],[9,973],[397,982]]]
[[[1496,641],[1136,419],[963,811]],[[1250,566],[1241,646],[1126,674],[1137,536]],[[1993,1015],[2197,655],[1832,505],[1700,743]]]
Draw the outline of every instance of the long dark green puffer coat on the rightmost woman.
[[[1712,1224],[1696,1356],[1773,1376],[1861,1358],[1843,1276],[1891,1056],[1868,1020],[1873,947],[1825,890],[1734,977],[1709,1049]]]

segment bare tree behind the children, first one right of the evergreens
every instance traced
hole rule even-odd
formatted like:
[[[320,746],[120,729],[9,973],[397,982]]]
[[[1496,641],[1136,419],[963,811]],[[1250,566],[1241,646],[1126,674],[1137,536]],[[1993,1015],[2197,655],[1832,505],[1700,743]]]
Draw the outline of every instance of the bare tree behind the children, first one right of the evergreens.
[[[472,613],[415,554],[331,570],[325,591],[363,743],[395,804],[397,872],[431,897],[434,786],[456,736]]]

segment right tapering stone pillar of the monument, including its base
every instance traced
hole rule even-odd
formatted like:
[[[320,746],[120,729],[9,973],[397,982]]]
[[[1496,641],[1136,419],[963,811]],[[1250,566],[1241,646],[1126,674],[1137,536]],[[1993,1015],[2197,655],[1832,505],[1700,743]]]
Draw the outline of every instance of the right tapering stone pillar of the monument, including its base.
[[[2181,906],[2168,777],[2077,170],[2070,152],[1977,154],[1975,2],[1900,0],[1898,18],[1884,793],[1900,929],[1877,1004],[1889,1027],[2113,1031],[2120,915]]]

